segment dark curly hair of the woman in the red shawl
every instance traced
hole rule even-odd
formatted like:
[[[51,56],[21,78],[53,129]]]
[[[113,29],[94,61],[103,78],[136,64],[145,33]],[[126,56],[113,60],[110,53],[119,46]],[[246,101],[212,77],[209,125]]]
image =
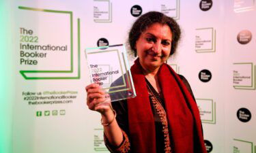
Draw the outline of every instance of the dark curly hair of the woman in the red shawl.
[[[143,33],[148,27],[150,27],[154,23],[159,23],[163,25],[167,24],[170,27],[172,33],[170,55],[175,53],[181,34],[179,24],[177,24],[177,22],[173,18],[170,18],[169,16],[166,16],[165,14],[162,14],[160,12],[147,12],[146,14],[140,16],[134,22],[129,32],[128,41],[130,49],[134,53],[134,56],[137,56],[137,50],[135,49],[136,41],[139,39],[141,33]]]

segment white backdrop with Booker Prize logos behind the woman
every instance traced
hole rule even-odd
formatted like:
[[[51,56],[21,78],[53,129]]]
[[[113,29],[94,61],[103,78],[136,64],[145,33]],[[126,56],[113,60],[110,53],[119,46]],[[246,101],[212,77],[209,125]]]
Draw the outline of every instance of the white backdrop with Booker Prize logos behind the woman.
[[[84,51],[126,44],[134,20],[149,11],[180,24],[182,39],[167,64],[192,87],[208,152],[256,153],[255,5],[2,0],[0,153],[109,152],[100,114],[86,105],[91,74]],[[134,59],[128,52],[130,65]],[[121,74],[121,68],[105,68]]]

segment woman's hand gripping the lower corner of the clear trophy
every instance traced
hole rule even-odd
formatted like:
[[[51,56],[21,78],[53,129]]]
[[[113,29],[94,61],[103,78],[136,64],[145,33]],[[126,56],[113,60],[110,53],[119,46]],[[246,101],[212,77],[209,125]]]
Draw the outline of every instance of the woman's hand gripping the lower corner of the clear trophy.
[[[100,112],[105,115],[107,112],[112,112],[111,99],[109,94],[104,92],[98,84],[89,84],[85,87],[87,92],[87,106],[89,109]]]

